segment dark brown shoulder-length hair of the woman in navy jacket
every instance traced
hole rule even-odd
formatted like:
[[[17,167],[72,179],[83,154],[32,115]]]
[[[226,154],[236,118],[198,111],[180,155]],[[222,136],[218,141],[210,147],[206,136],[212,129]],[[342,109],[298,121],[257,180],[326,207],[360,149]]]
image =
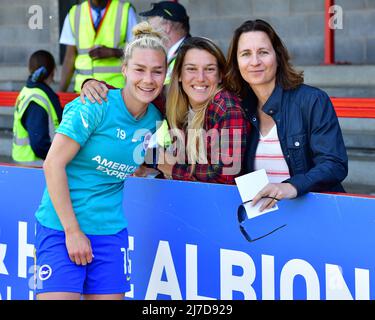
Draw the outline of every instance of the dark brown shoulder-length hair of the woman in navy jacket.
[[[251,31],[262,31],[266,33],[272,43],[277,59],[276,83],[283,89],[296,88],[298,85],[302,84],[303,71],[300,72],[294,69],[289,61],[290,55],[288,50],[277,35],[276,31],[266,21],[257,19],[245,21],[234,31],[228,50],[227,70],[224,77],[228,89],[243,97],[246,88],[249,87],[246,81],[242,78],[238,68],[237,50],[240,36],[243,33]]]

